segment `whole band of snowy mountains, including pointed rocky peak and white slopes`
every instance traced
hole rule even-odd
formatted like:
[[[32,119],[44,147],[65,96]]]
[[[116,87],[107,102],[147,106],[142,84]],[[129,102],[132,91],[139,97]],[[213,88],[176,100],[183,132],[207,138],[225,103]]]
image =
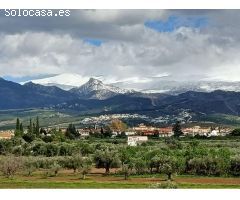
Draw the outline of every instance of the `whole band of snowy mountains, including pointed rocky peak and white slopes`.
[[[111,83],[110,80],[106,80],[107,83],[103,84],[102,79],[98,80],[98,77],[93,77],[89,81],[89,77],[82,76],[80,74],[59,74],[48,78],[29,80],[35,84],[44,86],[57,86],[63,90],[70,90],[73,88],[75,93],[78,93],[81,97],[90,97],[97,99],[105,99],[108,96],[112,97],[116,94],[131,93],[132,90],[128,88],[134,88],[134,91],[138,91],[144,94],[152,93],[166,93],[166,94],[181,94],[187,91],[196,92],[212,92],[215,90],[223,91],[235,91],[240,92],[240,82],[226,82],[226,81],[173,81],[165,79],[153,79],[149,82],[129,83],[128,79],[121,83]],[[87,83],[86,83],[87,82]],[[21,84],[25,84],[22,82]],[[86,84],[85,84],[86,83]],[[121,89],[125,88],[125,89]],[[127,88],[127,89],[126,89]],[[92,94],[92,91],[95,91]],[[98,91],[98,92],[96,92]],[[91,95],[90,95],[91,92]]]

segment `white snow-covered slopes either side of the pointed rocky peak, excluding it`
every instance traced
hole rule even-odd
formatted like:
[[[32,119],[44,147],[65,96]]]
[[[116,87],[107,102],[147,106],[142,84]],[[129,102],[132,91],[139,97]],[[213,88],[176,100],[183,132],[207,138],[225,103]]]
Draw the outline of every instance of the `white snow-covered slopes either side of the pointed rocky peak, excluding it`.
[[[94,77],[99,80],[99,77]],[[48,78],[33,79],[29,82],[44,86],[56,86],[63,90],[70,90],[83,86],[89,77],[85,77],[79,74],[65,73],[59,75],[53,75]],[[100,80],[102,78],[100,77]],[[100,81],[99,80],[99,81]],[[153,78],[148,80],[149,82],[136,83],[135,81],[119,80],[119,81],[108,81],[111,86],[118,88],[134,89],[141,93],[165,93],[165,94],[181,94],[187,91],[195,92],[212,92],[215,90],[223,91],[235,91],[240,92],[240,82],[227,82],[227,81],[209,81],[209,80],[196,80],[196,81],[176,81],[171,80],[168,77]],[[25,84],[22,82],[21,84]],[[111,95],[110,95],[111,96]]]

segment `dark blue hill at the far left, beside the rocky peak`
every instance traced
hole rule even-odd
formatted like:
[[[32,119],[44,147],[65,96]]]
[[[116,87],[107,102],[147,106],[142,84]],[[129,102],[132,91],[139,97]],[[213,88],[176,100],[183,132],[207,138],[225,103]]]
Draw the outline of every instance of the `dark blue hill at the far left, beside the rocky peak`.
[[[0,79],[0,109],[32,108],[55,105],[76,98],[57,87],[33,83],[20,85]]]

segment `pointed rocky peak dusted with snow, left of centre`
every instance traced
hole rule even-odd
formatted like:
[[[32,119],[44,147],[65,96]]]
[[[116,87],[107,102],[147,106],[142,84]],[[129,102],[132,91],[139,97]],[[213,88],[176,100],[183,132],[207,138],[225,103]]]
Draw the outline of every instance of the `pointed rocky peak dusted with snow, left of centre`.
[[[80,98],[107,99],[118,94],[127,94],[134,91],[107,85],[98,79],[90,78],[88,82],[78,88],[71,89],[70,92],[77,94]]]

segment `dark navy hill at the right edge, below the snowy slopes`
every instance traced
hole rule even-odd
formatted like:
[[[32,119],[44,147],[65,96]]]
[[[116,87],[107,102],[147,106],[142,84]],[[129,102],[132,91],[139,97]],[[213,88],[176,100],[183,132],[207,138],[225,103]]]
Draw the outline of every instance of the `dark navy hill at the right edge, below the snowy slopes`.
[[[188,91],[169,96],[159,103],[158,108],[169,113],[178,109],[188,109],[202,114],[240,114],[240,93],[217,90],[214,92]]]

